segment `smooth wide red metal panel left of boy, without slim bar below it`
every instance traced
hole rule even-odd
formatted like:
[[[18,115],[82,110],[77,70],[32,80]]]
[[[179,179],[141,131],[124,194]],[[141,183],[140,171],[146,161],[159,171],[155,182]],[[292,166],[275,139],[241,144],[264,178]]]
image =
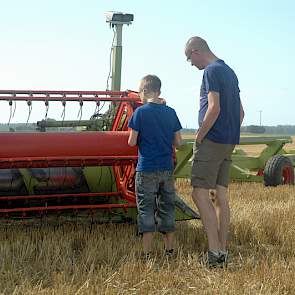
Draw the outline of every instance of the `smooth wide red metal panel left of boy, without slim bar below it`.
[[[126,131],[0,133],[0,159],[134,158],[137,149],[128,146],[128,136]]]

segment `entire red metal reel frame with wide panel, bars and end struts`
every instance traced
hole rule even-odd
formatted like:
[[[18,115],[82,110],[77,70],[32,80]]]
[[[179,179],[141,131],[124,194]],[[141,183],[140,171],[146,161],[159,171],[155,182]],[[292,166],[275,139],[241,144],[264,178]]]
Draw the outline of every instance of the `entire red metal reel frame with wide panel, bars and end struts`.
[[[0,90],[0,101],[110,101],[118,105],[112,131],[91,132],[31,132],[0,133],[0,169],[111,166],[116,183],[116,192],[46,193],[36,195],[0,196],[0,216],[28,217],[30,214],[46,214],[65,210],[112,210],[136,207],[135,165],[137,148],[127,144],[128,120],[134,109],[141,104],[138,93],[131,91],[40,91]],[[105,204],[81,204],[75,200],[101,197],[121,201]],[[112,198],[114,197],[114,198]],[[70,204],[59,205],[60,200],[72,198]],[[47,206],[47,201],[54,205]],[[40,200],[44,206],[31,202]],[[42,201],[43,200],[43,201]],[[83,201],[84,202],[84,201]],[[35,212],[35,213],[34,213]]]

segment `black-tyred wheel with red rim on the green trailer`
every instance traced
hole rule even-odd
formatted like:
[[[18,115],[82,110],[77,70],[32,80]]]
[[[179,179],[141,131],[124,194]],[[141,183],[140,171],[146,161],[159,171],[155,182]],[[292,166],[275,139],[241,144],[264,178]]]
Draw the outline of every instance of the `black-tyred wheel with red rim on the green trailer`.
[[[271,157],[264,168],[265,186],[294,184],[294,167],[291,160],[282,155]]]

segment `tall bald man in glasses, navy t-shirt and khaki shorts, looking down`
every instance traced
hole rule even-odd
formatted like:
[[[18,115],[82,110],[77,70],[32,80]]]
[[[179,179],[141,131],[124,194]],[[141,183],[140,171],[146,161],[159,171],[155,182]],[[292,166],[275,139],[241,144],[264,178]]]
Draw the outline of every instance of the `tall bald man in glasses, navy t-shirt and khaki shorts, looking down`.
[[[199,129],[196,133],[192,198],[208,237],[209,267],[226,265],[230,210],[227,200],[231,154],[240,139],[244,111],[238,78],[200,37],[185,45],[187,61],[204,70],[200,90]],[[216,190],[215,206],[209,190]]]

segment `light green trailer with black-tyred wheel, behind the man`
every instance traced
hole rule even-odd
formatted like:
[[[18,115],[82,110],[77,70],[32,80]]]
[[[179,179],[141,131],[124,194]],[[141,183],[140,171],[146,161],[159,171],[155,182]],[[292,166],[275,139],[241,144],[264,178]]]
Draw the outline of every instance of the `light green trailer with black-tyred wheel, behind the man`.
[[[294,185],[295,151],[286,151],[285,144],[291,137],[242,136],[232,154],[230,176],[232,181],[263,182],[265,186]],[[243,145],[264,145],[257,156],[248,155]],[[193,141],[186,140],[177,153],[175,177],[191,177]]]

